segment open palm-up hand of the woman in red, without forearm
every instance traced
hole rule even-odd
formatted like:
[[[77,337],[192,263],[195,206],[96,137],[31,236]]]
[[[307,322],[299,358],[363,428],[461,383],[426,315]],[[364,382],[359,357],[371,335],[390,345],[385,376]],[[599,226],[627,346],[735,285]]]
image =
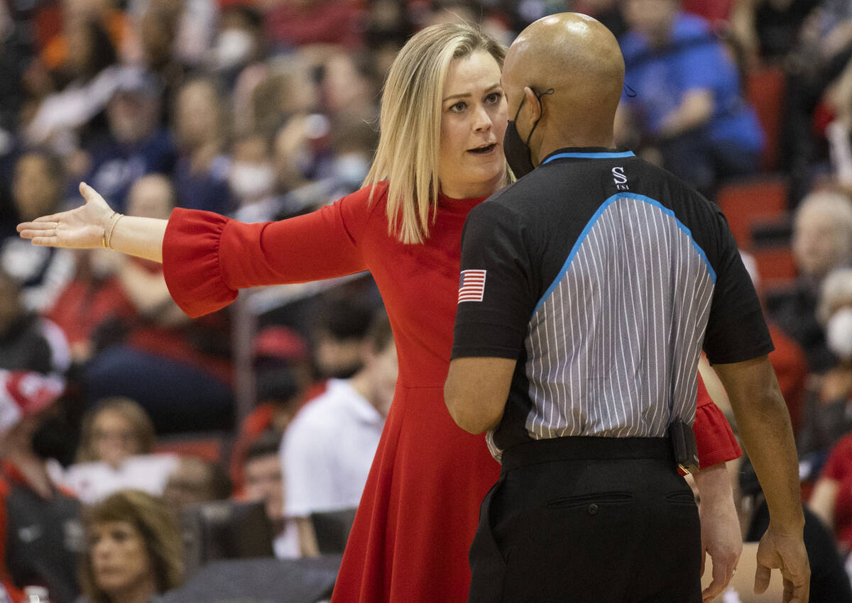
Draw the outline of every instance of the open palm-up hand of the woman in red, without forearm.
[[[47,247],[103,247],[107,228],[114,226],[112,216],[115,212],[104,198],[85,182],[80,183],[80,193],[86,199],[85,204],[74,210],[43,215],[32,222],[23,222],[18,225],[20,236],[29,238],[32,244]]]

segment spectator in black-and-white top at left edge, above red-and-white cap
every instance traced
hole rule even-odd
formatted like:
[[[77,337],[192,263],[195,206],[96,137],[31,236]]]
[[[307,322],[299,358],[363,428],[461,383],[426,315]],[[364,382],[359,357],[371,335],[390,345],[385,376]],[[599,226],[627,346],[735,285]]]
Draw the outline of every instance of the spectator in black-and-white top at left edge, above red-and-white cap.
[[[0,369],[62,375],[71,358],[61,330],[24,308],[20,285],[0,270]]]

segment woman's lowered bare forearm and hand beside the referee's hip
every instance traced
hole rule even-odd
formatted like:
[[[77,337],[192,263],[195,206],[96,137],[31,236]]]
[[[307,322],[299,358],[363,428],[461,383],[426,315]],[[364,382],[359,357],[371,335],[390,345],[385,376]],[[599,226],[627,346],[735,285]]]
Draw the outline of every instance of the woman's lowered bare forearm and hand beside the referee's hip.
[[[701,469],[694,480],[700,497],[702,576],[706,555],[713,562],[713,581],[701,592],[701,600],[711,601],[722,594],[734,577],[743,539],[725,463]]]

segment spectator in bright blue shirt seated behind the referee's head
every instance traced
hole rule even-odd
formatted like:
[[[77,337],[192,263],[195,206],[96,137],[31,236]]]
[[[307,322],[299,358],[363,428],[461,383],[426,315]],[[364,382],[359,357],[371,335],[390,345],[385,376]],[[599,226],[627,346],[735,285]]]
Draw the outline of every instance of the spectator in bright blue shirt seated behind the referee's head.
[[[630,31],[619,42],[636,95],[622,103],[617,138],[638,130],[665,168],[708,197],[723,178],[755,172],[763,131],[707,22],[682,13],[678,0],[627,0],[624,8]]]

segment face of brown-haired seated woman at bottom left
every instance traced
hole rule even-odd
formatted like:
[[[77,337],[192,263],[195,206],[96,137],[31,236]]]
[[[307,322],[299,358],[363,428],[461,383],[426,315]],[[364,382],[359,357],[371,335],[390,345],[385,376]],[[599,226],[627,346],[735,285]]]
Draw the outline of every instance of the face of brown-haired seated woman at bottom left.
[[[93,525],[89,531],[89,558],[95,585],[113,600],[120,600],[122,593],[139,589],[146,582],[153,585],[145,539],[129,521]]]

